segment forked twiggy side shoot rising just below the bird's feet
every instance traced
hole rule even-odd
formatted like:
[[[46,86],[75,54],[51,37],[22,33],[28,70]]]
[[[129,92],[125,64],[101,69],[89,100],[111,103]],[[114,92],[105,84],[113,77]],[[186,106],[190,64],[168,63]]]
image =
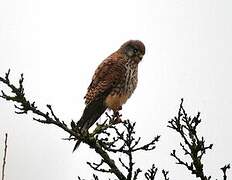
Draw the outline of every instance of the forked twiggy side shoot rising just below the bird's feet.
[[[128,120],[124,121],[122,125],[125,130],[122,132],[120,132],[115,126],[109,126],[107,130],[113,130],[113,132],[107,133],[104,131],[107,138],[99,138],[101,146],[106,151],[113,153],[123,153],[127,156],[127,163],[123,162],[123,160],[119,158],[121,166],[127,170],[127,180],[136,179],[138,173],[140,172],[139,169],[133,174],[133,168],[135,165],[135,162],[133,162],[133,153],[135,151],[153,150],[155,148],[156,142],[158,142],[160,138],[160,136],[156,136],[151,142],[145,145],[140,145],[139,142],[141,138],[135,138],[135,124],[136,123],[131,123]],[[112,136],[112,134],[116,134],[116,136],[112,138],[112,141],[110,141],[109,135]]]

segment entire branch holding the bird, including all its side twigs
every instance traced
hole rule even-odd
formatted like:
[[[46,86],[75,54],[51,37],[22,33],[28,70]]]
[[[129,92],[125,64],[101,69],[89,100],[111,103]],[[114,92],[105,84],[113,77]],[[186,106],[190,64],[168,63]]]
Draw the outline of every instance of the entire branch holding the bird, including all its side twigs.
[[[136,180],[138,175],[142,170],[140,168],[135,168],[135,162],[133,160],[133,153],[137,151],[150,151],[155,149],[156,142],[159,141],[160,136],[155,136],[150,142],[141,145],[141,137],[135,137],[135,125],[129,120],[123,121],[120,123],[122,125],[122,130],[120,130],[118,124],[115,124],[115,118],[118,118],[114,115],[107,115],[107,120],[102,124],[97,124],[96,128],[92,131],[79,131],[75,127],[75,122],[72,121],[70,125],[67,125],[65,121],[61,120],[53,110],[51,105],[47,105],[47,111],[41,111],[35,104],[35,102],[29,101],[24,93],[23,81],[24,77],[21,74],[21,77],[18,82],[18,86],[15,86],[10,82],[9,79],[10,70],[5,74],[5,77],[0,77],[0,82],[5,84],[10,88],[12,94],[7,94],[4,91],[1,91],[1,98],[6,101],[12,101],[16,109],[17,114],[27,114],[32,112],[33,120],[43,124],[53,124],[65,132],[68,133],[69,138],[65,140],[81,140],[83,143],[87,144],[91,149],[100,155],[100,163],[91,163],[87,164],[95,171],[100,171],[102,173],[112,173],[120,180]],[[124,161],[121,158],[118,158],[120,168],[126,169],[126,175],[122,173],[119,166],[110,156],[110,153],[122,153],[127,158],[128,161]],[[108,166],[108,167],[105,167]],[[148,180],[154,180],[157,168],[152,166],[145,177]],[[95,180],[98,180],[98,176],[93,176]],[[80,177],[78,177],[81,180]]]

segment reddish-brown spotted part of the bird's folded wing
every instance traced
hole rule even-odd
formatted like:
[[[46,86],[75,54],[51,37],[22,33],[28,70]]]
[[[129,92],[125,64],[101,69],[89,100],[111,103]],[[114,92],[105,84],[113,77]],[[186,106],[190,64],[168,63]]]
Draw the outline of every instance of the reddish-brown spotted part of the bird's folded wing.
[[[120,58],[113,54],[98,66],[85,95],[86,104],[105,92],[109,94],[110,90],[123,80],[126,69]]]

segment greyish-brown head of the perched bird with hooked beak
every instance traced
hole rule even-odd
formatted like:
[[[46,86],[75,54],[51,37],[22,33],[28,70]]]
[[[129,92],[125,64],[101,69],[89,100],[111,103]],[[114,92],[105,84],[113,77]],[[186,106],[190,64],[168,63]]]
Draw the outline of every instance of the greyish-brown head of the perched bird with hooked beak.
[[[120,50],[129,60],[135,63],[139,63],[145,54],[145,46],[139,40],[129,40],[125,42],[120,47]]]

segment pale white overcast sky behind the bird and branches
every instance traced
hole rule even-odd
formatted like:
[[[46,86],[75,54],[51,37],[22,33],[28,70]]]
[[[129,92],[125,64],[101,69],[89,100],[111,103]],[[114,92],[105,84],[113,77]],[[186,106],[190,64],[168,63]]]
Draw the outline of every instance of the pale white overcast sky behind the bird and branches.
[[[140,39],[147,51],[123,117],[137,122],[144,141],[162,137],[156,150],[137,154],[138,165],[195,179],[169,155],[180,137],[167,122],[184,98],[190,114],[201,112],[199,133],[214,143],[206,173],[220,178],[220,167],[232,163],[231,9],[230,0],[0,0],[0,74],[11,68],[16,82],[23,72],[27,96],[70,122],[82,113],[96,66],[125,41]],[[62,141],[58,128],[15,115],[10,103],[0,101],[0,108],[2,145],[9,133],[7,180],[90,179],[85,162],[99,159],[93,150],[81,145],[72,153],[74,144]]]

